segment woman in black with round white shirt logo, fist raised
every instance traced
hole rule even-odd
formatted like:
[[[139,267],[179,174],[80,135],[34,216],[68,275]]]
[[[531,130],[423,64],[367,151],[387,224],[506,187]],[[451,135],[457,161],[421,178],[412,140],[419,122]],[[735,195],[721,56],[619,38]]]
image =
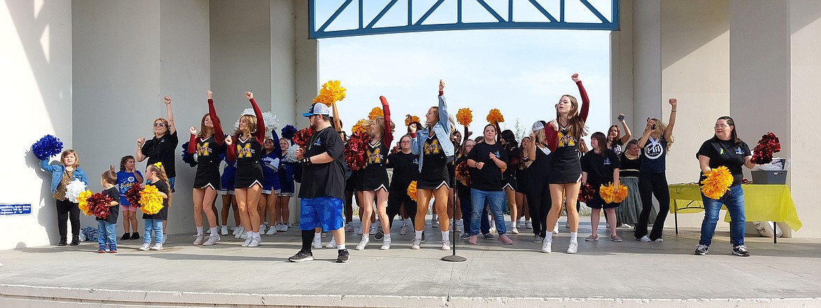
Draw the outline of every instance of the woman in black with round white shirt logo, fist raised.
[[[641,148],[641,169],[639,171],[639,191],[641,195],[641,214],[639,223],[635,226],[633,236],[636,241],[663,241],[662,230],[667,212],[670,211],[670,191],[667,189],[667,153],[673,143],[672,126],[676,125],[676,99],[668,101],[670,109],[669,124],[664,124],[657,118],[648,118],[644,126],[644,135],[639,139]],[[658,200],[658,214],[653,231],[647,233],[647,224],[650,220],[650,209],[653,208],[653,196]]]

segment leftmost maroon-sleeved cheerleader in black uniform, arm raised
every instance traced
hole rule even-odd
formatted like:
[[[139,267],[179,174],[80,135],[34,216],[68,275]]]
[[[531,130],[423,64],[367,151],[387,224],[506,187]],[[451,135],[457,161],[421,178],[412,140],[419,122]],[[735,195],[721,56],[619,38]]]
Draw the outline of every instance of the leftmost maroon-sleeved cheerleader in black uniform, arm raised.
[[[210,246],[219,241],[219,232],[217,230],[217,214],[213,213],[211,206],[213,200],[217,199],[217,190],[219,189],[219,152],[222,148],[222,140],[225,135],[222,134],[222,126],[217,117],[217,109],[213,108],[213,92],[208,90],[205,92],[208,95],[208,110],[202,120],[200,120],[200,134],[197,134],[197,129],[191,126],[191,137],[188,141],[188,154],[197,154],[197,174],[194,177],[194,223],[197,228],[197,237],[194,240],[194,245]],[[208,218],[209,229],[211,235],[209,239],[204,241],[203,234],[203,210],[205,217]]]

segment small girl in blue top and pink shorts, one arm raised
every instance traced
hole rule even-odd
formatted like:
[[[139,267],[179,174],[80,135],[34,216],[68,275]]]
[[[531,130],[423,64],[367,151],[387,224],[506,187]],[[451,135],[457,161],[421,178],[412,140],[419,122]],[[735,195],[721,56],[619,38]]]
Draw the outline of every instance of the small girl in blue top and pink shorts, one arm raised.
[[[114,171],[114,165],[111,165]],[[120,209],[122,210],[122,237],[120,240],[136,240],[140,238],[137,228],[137,205],[132,205],[126,199],[126,191],[136,183],[143,182],[143,174],[135,168],[134,156],[127,155],[120,159],[120,171],[117,172],[117,186],[120,187]],[[128,231],[131,230],[131,233]]]

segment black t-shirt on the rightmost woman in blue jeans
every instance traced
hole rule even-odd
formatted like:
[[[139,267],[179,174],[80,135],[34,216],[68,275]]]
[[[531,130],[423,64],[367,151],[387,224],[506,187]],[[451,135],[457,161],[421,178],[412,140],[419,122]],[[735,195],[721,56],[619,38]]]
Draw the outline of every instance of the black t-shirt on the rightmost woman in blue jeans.
[[[744,173],[741,171],[741,166],[744,166],[745,156],[750,156],[750,147],[744,141],[738,144],[732,140],[720,140],[716,137],[704,141],[701,145],[699,153],[695,157],[704,155],[710,158],[710,168],[718,168],[725,166],[730,169],[732,173],[732,185],[740,184],[744,179]],[[699,181],[701,182],[701,181]]]

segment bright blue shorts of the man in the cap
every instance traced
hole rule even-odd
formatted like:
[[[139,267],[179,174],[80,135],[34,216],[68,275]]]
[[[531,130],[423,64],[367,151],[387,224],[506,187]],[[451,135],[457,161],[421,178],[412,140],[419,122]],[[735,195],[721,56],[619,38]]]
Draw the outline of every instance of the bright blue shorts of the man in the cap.
[[[300,230],[333,231],[345,226],[342,218],[344,202],[334,197],[323,196],[300,199]]]

